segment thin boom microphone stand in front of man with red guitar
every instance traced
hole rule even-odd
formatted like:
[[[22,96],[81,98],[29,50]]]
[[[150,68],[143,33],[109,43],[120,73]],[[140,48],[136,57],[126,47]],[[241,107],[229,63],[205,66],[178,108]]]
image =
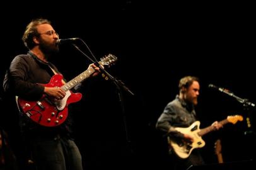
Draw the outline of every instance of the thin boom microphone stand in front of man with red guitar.
[[[83,40],[81,40],[83,42]],[[83,42],[84,43],[84,42]],[[86,45],[86,43],[84,43]],[[130,149],[130,152],[132,153],[133,150],[131,148],[131,139],[128,133],[128,128],[127,128],[127,121],[126,121],[126,116],[125,116],[125,109],[124,109],[124,99],[123,99],[123,94],[122,94],[122,89],[124,89],[124,91],[127,91],[127,93],[131,94],[132,96],[134,96],[134,93],[132,93],[132,91],[127,88],[127,86],[125,86],[124,82],[122,82],[121,80],[113,77],[112,75],[110,75],[104,68],[102,65],[100,65],[98,62],[94,61],[93,59],[91,59],[88,55],[84,54],[84,52],[82,50],[80,50],[80,48],[78,46],[76,46],[74,43],[72,43],[72,45],[79,50],[79,52],[81,52],[85,57],[87,57],[89,60],[91,60],[91,62],[93,62],[93,64],[95,64],[97,67],[100,68],[100,71],[103,72],[105,74],[105,76],[107,76],[112,82],[113,84],[115,84],[116,88],[117,88],[117,93],[119,96],[119,102],[120,102],[120,106],[122,108],[122,114],[123,114],[123,122],[124,122],[124,128],[125,128],[125,139],[126,142],[128,144],[128,147]],[[88,46],[86,45],[86,47],[88,48]],[[88,48],[89,49],[89,48]],[[89,49],[90,50],[90,49]],[[90,50],[91,52],[91,50]],[[93,55],[91,53],[91,55]],[[94,57],[94,55],[93,55]],[[95,57],[94,57],[95,58]],[[95,58],[96,60],[96,58]]]

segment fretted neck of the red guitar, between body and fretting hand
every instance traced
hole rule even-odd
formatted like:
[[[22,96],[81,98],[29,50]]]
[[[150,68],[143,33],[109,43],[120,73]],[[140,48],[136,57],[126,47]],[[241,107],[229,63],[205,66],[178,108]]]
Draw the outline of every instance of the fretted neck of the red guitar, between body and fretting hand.
[[[72,79],[71,81],[61,86],[61,89],[63,89],[64,91],[69,91],[70,89],[74,88],[74,86],[78,85],[79,82],[82,82],[88,77],[90,77],[90,75],[93,74],[93,72],[95,72],[95,69],[93,69],[93,67],[90,67],[86,71],[74,77],[74,79]]]

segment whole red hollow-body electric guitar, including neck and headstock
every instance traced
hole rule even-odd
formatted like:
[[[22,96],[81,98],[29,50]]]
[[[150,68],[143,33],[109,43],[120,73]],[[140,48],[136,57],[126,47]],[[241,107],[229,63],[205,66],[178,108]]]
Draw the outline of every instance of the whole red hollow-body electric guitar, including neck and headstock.
[[[108,54],[98,63],[100,65],[109,66],[116,60],[117,57],[115,57],[115,55]],[[95,69],[90,67],[65,84],[62,82],[63,76],[61,74],[55,74],[52,76],[49,83],[42,85],[50,88],[59,87],[66,91],[66,96],[63,99],[54,102],[45,94],[38,101],[27,101],[18,97],[16,99],[18,108],[31,120],[42,126],[55,127],[57,125],[61,125],[65,122],[68,116],[68,105],[70,103],[78,102],[82,98],[81,93],[73,93],[71,89],[79,84],[79,82],[87,79],[91,74],[93,74],[93,72],[95,72]]]

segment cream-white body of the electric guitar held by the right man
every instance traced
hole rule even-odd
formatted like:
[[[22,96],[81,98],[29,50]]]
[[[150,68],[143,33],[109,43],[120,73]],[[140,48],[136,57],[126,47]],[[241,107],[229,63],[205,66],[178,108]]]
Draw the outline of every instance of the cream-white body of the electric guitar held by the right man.
[[[189,157],[193,149],[204,147],[206,142],[204,142],[204,140],[202,140],[202,137],[198,135],[198,132],[200,132],[199,126],[200,122],[196,121],[192,123],[190,127],[175,128],[175,130],[177,130],[178,132],[187,133],[194,139],[194,142],[192,142],[192,144],[177,144],[173,140],[168,139],[169,144],[172,146],[173,150],[175,151],[175,154],[177,154],[178,157],[185,159]]]

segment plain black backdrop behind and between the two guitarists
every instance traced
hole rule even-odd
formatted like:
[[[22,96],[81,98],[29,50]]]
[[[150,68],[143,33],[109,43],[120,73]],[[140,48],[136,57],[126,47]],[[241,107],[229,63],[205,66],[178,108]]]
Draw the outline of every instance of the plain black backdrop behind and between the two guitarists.
[[[154,126],[178,93],[179,79],[188,75],[201,79],[197,106],[201,128],[229,115],[244,118],[203,137],[206,162],[217,162],[216,139],[221,139],[224,162],[255,156],[254,131],[246,121],[250,118],[253,125],[255,108],[207,88],[215,84],[256,103],[252,4],[125,0],[7,4],[1,9],[8,12],[0,12],[1,81],[13,57],[26,53],[21,37],[30,20],[38,17],[52,21],[60,38],[82,38],[98,60],[107,54],[118,58],[107,71],[135,95],[122,89],[120,103],[115,84],[98,76],[86,80],[83,99],[74,103],[74,131],[87,169],[168,164],[166,141]],[[83,44],[78,47],[90,55]],[[66,79],[78,76],[91,63],[69,44],[61,47],[61,56],[53,62]],[[11,114],[8,106],[2,106],[1,122],[7,114]]]

